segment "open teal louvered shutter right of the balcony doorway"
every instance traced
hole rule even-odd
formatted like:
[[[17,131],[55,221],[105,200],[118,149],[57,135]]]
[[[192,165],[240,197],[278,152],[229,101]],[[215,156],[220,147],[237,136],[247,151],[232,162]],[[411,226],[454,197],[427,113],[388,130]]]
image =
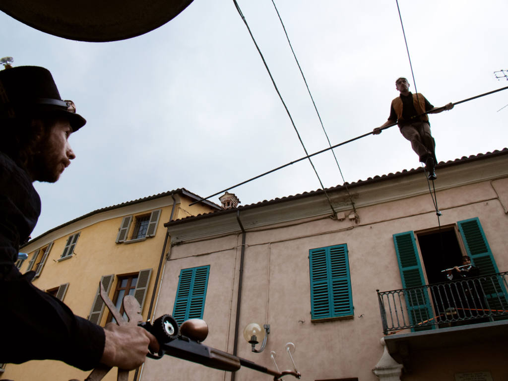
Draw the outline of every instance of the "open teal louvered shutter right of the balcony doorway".
[[[478,217],[465,219],[458,221],[457,225],[472,264],[480,269],[480,275],[491,275],[487,278],[480,278],[487,308],[493,310],[508,308],[508,294],[502,277],[498,276],[497,281],[492,277],[492,274],[498,273],[499,270],[480,224],[480,219]]]

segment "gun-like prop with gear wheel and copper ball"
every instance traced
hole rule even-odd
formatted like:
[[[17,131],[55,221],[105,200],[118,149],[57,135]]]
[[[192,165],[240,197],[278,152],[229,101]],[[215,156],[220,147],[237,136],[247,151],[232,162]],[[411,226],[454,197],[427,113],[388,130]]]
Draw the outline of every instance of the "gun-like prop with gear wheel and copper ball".
[[[296,370],[296,366],[294,371],[283,370],[279,372],[278,370],[268,369],[255,362],[202,344],[202,341],[204,341],[208,335],[208,326],[205,321],[201,319],[190,319],[183,322],[181,326],[178,326],[173,316],[166,314],[154,320],[153,324],[150,322],[143,322],[141,307],[136,298],[132,295],[127,295],[123,298],[123,309],[128,317],[127,320],[120,314],[113,302],[109,299],[102,283],[100,284],[100,289],[102,300],[104,300],[104,303],[111,311],[118,325],[139,325],[157,338],[160,350],[157,353],[147,354],[149,358],[162,359],[165,355],[168,355],[229,372],[236,372],[240,367],[244,366],[262,373],[270,374],[273,376],[274,381],[279,380],[285,375],[292,375],[296,378],[301,377],[301,374]],[[100,365],[92,370],[85,381],[99,381],[110,370],[111,367]],[[127,381],[128,377],[128,370],[118,369],[118,381]],[[79,380],[72,379],[70,381]]]

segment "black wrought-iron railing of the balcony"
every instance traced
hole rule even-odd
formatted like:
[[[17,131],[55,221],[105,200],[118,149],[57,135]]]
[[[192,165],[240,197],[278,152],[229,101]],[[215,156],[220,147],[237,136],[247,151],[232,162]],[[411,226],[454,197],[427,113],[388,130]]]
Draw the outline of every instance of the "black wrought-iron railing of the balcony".
[[[383,332],[423,331],[508,319],[508,272],[377,290]]]

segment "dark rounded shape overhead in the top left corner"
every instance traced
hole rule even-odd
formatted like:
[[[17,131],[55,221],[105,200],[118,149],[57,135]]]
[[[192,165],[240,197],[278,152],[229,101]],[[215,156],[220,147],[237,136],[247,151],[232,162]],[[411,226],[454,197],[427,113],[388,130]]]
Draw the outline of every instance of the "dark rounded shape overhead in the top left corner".
[[[165,24],[193,0],[2,0],[0,10],[70,40],[125,40]]]

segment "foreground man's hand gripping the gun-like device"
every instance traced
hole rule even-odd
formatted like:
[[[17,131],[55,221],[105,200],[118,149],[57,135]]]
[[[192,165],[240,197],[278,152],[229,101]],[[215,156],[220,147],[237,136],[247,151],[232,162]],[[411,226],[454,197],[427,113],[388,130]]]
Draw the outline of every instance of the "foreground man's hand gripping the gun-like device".
[[[108,323],[104,327],[106,343],[101,363],[133,370],[144,363],[148,346],[158,352],[157,339],[144,328],[138,326],[117,326]]]

